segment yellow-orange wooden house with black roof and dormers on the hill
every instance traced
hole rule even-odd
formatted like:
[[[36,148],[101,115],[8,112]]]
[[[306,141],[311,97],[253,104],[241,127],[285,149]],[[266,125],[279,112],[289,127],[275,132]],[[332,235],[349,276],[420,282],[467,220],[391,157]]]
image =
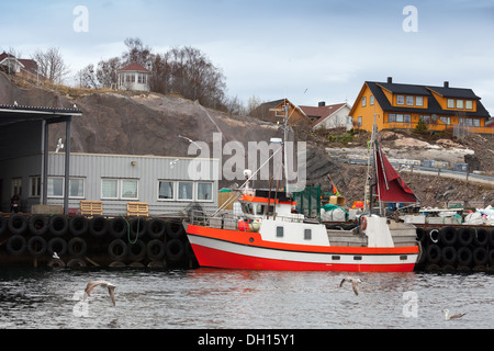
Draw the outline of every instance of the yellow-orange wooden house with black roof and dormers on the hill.
[[[353,125],[372,131],[374,118],[378,129],[412,129],[422,118],[429,131],[453,132],[456,126],[470,133],[494,134],[487,127],[490,114],[481,98],[471,89],[366,81],[349,113]]]

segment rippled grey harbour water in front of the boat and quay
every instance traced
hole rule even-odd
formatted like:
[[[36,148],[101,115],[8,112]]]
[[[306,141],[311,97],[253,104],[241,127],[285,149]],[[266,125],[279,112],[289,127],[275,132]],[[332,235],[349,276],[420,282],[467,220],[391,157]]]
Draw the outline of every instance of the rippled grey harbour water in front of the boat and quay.
[[[2,329],[487,329],[494,275],[1,269]],[[91,280],[116,285],[116,306]],[[442,309],[465,313],[445,320]]]

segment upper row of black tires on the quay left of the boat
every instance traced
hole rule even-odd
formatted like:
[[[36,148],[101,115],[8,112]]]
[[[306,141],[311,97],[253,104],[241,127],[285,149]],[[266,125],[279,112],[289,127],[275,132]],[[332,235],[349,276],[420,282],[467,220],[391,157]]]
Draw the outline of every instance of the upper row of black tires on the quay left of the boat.
[[[9,218],[0,217],[0,235],[10,231],[12,235],[23,235],[30,233],[33,236],[44,236],[50,234],[61,237],[69,234],[72,237],[103,237],[111,235],[115,239],[121,239],[127,235],[142,238],[149,236],[151,239],[160,239],[165,235],[170,238],[180,238],[184,235],[184,229],[179,219],[161,219],[144,217],[105,218],[94,216],[88,218],[81,215],[66,217],[63,215],[33,215],[27,217],[22,214],[13,214]]]

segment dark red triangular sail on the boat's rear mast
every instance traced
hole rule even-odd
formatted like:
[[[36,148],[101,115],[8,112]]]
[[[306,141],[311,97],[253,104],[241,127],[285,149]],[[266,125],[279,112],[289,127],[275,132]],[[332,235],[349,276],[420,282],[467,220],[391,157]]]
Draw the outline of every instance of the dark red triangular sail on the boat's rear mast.
[[[377,149],[377,165],[378,173],[378,195],[383,202],[416,202],[417,197],[414,192],[405,184],[403,179],[391,166],[388,158],[378,147]]]

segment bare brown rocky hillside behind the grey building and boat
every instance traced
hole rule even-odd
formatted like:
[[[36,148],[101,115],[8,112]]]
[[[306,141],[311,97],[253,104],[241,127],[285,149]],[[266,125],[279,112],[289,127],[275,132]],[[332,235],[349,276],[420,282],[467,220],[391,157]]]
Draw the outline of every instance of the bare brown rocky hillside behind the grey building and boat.
[[[212,150],[214,133],[222,134],[222,145],[237,140],[245,149],[248,141],[269,141],[272,137],[282,136],[282,129],[277,124],[246,116],[231,116],[204,109],[198,102],[180,97],[25,86],[20,88],[19,82],[14,84],[1,73],[0,104],[13,104],[14,101],[22,105],[54,107],[71,107],[76,104],[82,111],[82,116],[75,117],[71,124],[74,152],[194,157],[188,154],[190,141],[186,138],[205,141]],[[58,138],[65,136],[64,128],[64,125],[50,127],[49,143],[53,149]],[[292,140],[301,137],[307,141],[307,184],[322,184],[326,191],[329,188],[326,176],[329,174],[347,202],[361,200],[367,168],[336,162],[326,151],[327,145],[311,135],[296,132],[291,135]],[[393,152],[419,152],[415,147],[404,147],[404,143],[394,143],[395,139],[391,136],[383,140]],[[493,158],[487,155],[490,145],[494,143],[469,143],[471,145],[468,148],[473,152],[468,152],[469,157],[475,158],[484,170],[494,171]],[[364,147],[364,141],[352,145],[359,146]],[[228,157],[224,157],[225,159]],[[448,201],[464,199],[494,203],[494,190],[486,185],[407,173],[403,173],[403,178],[424,205],[441,205]],[[221,181],[220,185],[228,186],[231,182]]]

